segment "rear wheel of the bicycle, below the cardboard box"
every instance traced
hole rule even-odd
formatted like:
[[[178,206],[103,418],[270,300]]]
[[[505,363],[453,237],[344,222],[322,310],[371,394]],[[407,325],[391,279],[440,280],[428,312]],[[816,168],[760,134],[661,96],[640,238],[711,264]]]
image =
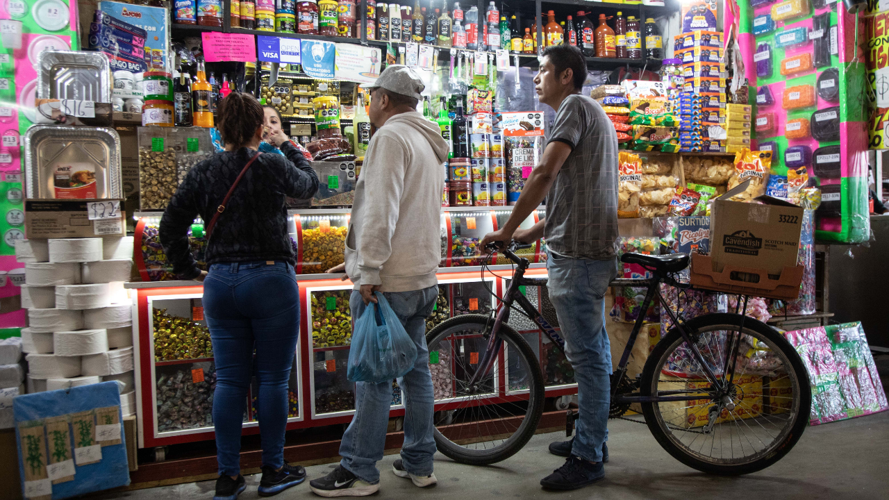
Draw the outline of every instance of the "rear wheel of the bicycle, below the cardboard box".
[[[643,396],[695,397],[643,403],[642,409],[661,447],[702,472],[765,469],[787,455],[809,421],[812,392],[797,351],[756,319],[744,320],[739,337],[740,322],[740,315],[725,313],[692,319],[685,328],[693,345],[673,328],[643,370]],[[737,354],[726,362],[733,342]],[[695,348],[717,380],[693,356]],[[724,378],[731,382],[717,391]]]

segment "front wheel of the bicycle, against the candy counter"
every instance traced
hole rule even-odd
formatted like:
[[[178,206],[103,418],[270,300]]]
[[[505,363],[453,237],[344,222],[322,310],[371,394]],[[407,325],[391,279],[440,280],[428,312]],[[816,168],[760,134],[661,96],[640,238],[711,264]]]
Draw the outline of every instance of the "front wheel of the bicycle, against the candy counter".
[[[488,340],[487,316],[448,319],[426,336],[436,393],[438,451],[461,464],[500,462],[522,449],[543,412],[543,375],[531,347],[502,325],[503,341],[491,371],[469,387]]]

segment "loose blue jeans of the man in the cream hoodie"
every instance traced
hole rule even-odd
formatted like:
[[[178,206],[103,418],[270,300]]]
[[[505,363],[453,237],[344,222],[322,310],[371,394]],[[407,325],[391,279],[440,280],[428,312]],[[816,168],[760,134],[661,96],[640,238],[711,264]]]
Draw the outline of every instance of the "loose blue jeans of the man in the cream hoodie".
[[[404,444],[401,459],[404,469],[416,476],[432,473],[432,456],[436,441],[432,437],[435,395],[429,373],[429,351],[426,348],[426,318],[432,314],[438,297],[438,286],[412,292],[384,292],[407,335],[417,344],[417,361],[413,369],[398,379],[404,390]],[[366,306],[361,294],[349,297],[352,318],[361,318]],[[355,417],[348,424],[340,444],[340,464],[361,480],[376,483],[380,480],[377,462],[386,446],[389,408],[392,404],[392,383],[355,384]]]

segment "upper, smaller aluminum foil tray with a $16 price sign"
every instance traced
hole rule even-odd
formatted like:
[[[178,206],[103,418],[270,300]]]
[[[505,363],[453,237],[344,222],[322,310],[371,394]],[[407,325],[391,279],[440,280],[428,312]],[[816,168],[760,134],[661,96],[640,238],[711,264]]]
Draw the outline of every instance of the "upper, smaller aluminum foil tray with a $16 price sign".
[[[37,99],[111,102],[111,69],[101,52],[40,52],[37,75]]]

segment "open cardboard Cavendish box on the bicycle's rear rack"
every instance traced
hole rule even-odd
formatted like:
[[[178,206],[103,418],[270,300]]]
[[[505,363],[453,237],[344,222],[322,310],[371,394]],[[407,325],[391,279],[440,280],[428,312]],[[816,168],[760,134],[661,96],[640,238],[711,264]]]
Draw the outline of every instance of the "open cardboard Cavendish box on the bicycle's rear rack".
[[[803,278],[797,266],[803,209],[778,198],[760,203],[729,198],[743,182],[716,198],[710,210],[710,254],[693,254],[692,284],[732,294],[796,299]]]

